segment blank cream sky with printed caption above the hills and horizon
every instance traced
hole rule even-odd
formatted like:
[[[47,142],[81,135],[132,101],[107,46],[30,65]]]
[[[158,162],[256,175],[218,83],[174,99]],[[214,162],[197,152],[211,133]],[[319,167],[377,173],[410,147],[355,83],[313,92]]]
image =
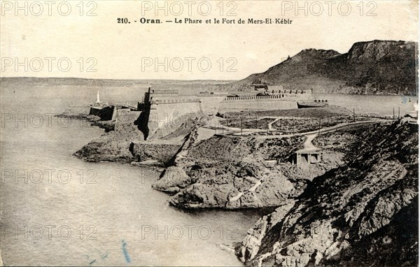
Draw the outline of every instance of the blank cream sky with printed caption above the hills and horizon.
[[[419,39],[418,1],[1,1],[0,11],[1,77],[238,80],[307,48]]]

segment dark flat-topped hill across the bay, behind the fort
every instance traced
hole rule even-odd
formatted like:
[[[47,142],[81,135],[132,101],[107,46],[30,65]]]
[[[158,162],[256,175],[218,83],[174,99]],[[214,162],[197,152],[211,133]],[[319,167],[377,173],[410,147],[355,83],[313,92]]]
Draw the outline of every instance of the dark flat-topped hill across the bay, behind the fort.
[[[414,42],[377,40],[355,43],[345,54],[307,49],[236,85],[266,83],[318,93],[417,95],[418,50]]]

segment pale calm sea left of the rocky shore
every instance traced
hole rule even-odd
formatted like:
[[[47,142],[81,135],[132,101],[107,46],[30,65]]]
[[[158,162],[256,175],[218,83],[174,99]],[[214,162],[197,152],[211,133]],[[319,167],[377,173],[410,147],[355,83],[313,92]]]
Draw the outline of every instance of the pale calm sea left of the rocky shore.
[[[261,212],[178,210],[151,188],[157,171],[73,157],[103,133],[52,116],[86,102],[80,90],[1,88],[3,264],[241,266],[221,247],[240,242]]]

